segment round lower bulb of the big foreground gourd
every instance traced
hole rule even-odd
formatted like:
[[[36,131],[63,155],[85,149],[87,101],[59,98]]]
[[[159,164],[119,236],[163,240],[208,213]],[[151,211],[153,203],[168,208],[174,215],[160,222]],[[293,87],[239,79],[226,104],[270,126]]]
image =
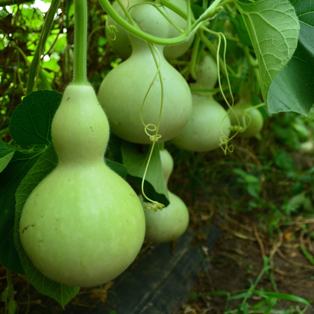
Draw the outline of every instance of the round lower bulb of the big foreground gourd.
[[[27,199],[20,238],[32,263],[71,286],[103,284],[138,254],[145,219],[133,189],[104,162],[59,164]]]

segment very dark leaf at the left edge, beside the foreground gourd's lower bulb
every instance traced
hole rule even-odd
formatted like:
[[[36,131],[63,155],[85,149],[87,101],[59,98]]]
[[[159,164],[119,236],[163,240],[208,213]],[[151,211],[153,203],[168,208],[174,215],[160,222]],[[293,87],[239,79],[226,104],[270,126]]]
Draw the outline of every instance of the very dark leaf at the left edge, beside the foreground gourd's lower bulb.
[[[0,263],[15,273],[24,274],[13,237],[15,191],[40,155],[38,151],[17,150],[0,173]]]

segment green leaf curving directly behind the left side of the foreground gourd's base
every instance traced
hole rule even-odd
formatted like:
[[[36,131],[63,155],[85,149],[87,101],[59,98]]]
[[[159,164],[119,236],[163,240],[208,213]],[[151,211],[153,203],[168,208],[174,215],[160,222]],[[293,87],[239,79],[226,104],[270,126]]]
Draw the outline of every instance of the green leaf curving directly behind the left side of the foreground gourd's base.
[[[55,168],[56,164],[57,154],[55,149],[49,146],[19,185],[15,194],[14,242],[30,283],[41,294],[50,296],[64,307],[78,293],[79,287],[60,284],[44,276],[27,257],[19,237],[19,220],[24,203],[36,185]]]

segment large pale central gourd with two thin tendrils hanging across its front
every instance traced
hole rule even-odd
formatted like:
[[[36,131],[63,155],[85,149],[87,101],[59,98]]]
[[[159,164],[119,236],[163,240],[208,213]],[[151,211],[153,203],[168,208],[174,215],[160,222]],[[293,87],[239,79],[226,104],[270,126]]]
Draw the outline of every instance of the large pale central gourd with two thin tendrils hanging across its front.
[[[158,37],[166,37],[169,33],[170,23],[152,5],[140,4],[129,12],[145,32]],[[112,133],[129,142],[150,144],[140,110],[157,68],[146,42],[132,35],[129,38],[133,47],[131,57],[106,75],[100,85],[98,98],[106,111]],[[156,45],[156,48],[161,57],[164,90],[159,128],[162,137],[159,142],[164,142],[179,134],[187,124],[192,111],[192,95],[185,79],[163,56],[163,46]],[[159,60],[157,52],[153,51]],[[161,85],[157,76],[143,106],[145,125],[157,126],[160,104]]]

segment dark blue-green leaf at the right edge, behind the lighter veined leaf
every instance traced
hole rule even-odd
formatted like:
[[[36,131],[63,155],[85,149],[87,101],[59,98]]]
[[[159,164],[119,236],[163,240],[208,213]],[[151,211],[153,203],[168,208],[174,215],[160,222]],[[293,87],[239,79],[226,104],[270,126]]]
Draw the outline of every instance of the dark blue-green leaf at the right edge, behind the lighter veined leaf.
[[[270,84],[267,103],[271,113],[295,111],[307,116],[314,104],[314,2],[291,3],[300,21],[298,46]]]

